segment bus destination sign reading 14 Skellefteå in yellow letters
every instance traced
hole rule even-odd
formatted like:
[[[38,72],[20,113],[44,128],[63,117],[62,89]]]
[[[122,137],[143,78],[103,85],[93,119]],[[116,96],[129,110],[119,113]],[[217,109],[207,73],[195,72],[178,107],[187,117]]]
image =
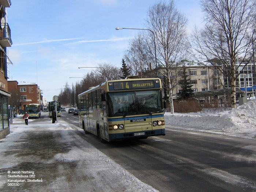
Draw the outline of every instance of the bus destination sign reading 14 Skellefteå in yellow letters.
[[[154,88],[154,80],[114,82],[114,90]]]

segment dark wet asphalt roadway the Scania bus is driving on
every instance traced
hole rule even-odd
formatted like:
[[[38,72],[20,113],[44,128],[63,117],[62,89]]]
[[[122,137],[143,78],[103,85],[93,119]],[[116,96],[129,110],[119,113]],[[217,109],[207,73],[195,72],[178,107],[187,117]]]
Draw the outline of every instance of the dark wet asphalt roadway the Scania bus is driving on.
[[[78,117],[62,120],[79,126]],[[77,120],[77,121],[76,121]],[[159,191],[256,191],[256,142],[166,127],[166,136],[101,143],[102,153]]]

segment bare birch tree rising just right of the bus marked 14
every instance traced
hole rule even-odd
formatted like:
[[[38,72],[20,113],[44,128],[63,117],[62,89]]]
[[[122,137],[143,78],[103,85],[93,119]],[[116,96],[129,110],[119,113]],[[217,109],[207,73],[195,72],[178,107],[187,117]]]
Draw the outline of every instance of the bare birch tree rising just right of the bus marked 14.
[[[172,67],[177,67],[178,61],[184,59],[185,50],[188,49],[187,23],[187,18],[177,10],[173,0],[170,0],[169,4],[157,3],[148,10],[147,27],[155,34],[157,65],[160,64],[165,68],[163,71],[167,77],[172,113],[174,108],[170,70]],[[149,35],[153,39],[153,35]]]

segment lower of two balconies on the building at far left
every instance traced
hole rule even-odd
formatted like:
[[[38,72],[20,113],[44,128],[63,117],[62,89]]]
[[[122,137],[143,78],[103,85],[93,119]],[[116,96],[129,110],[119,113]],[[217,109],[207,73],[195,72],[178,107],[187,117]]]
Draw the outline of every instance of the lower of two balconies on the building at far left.
[[[8,23],[1,23],[0,45],[2,47],[10,47],[12,45],[11,29],[10,29]]]

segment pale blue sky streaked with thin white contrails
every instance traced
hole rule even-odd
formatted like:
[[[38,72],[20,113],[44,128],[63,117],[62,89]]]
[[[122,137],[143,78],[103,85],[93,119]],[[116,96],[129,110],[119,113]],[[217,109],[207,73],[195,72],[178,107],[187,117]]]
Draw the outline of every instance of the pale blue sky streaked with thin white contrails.
[[[159,0],[11,0],[8,24],[10,79],[37,83],[47,101],[66,82],[78,82],[90,68],[110,63],[121,67],[129,39],[143,28],[147,11]],[[202,25],[198,0],[175,0],[189,19],[188,32]]]

